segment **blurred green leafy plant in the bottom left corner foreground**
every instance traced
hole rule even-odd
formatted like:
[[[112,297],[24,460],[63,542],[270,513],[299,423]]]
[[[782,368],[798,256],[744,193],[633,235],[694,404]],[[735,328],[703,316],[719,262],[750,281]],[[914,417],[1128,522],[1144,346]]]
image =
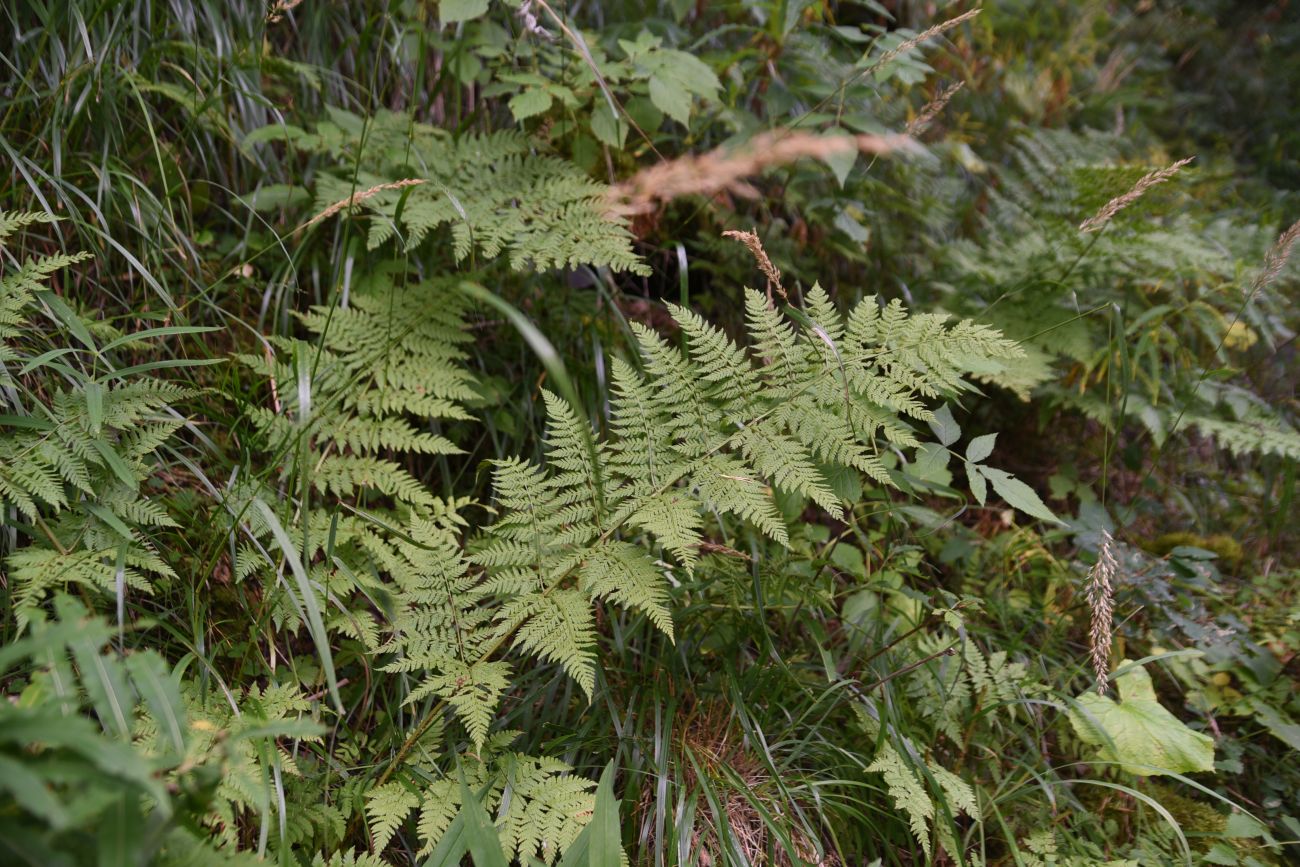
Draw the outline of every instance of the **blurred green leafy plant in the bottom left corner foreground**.
[[[0,677],[0,853],[10,863],[96,863],[107,825],[136,863],[231,864],[233,853],[177,822],[207,773],[166,663],[121,655],[114,630],[70,597],[32,612]],[[172,785],[165,785],[164,777]]]

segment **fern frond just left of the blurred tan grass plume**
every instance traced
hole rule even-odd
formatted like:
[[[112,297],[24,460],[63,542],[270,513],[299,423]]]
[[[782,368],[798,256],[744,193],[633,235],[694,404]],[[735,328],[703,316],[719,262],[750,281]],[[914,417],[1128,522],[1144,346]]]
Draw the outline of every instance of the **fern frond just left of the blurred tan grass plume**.
[[[370,216],[372,250],[394,238],[412,250],[451,226],[456,261],[504,253],[516,270],[588,264],[650,273],[632,252],[627,229],[602,211],[604,187],[564,160],[534,153],[520,133],[454,139],[410,114],[381,110],[363,121],[333,108],[313,134],[266,127],[255,135],[338,159],[339,173],[317,181],[317,211],[369,194],[356,204]],[[378,188],[407,178],[424,183]]]

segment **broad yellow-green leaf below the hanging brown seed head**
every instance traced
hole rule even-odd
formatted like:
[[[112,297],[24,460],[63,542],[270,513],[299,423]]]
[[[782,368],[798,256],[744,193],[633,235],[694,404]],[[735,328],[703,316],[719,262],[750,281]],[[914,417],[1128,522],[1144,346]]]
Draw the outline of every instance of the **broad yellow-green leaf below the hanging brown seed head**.
[[[1070,711],[1079,740],[1098,746],[1101,759],[1141,776],[1214,770],[1213,738],[1187,728],[1161,706],[1144,668],[1132,667],[1115,685],[1118,703],[1088,693]]]

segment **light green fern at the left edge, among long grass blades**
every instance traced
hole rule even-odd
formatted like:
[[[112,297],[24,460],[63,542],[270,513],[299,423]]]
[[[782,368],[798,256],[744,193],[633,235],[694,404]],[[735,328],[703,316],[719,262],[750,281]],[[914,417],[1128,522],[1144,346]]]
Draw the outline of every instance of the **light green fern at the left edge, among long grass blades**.
[[[40,213],[0,213],[0,239],[47,222],[53,218]],[[0,277],[0,363],[13,420],[0,434],[0,523],[17,517],[40,528],[5,559],[20,628],[68,585],[150,593],[155,578],[174,577],[148,536],[174,521],[140,487],[182,424],[172,404],[191,391],[112,372],[96,335],[109,338],[105,346],[129,338],[87,321],[46,285],[83,259],[42,256]],[[61,346],[68,334],[78,339],[77,352]],[[92,376],[79,355],[103,357],[109,372]]]

